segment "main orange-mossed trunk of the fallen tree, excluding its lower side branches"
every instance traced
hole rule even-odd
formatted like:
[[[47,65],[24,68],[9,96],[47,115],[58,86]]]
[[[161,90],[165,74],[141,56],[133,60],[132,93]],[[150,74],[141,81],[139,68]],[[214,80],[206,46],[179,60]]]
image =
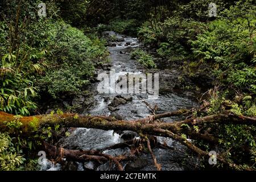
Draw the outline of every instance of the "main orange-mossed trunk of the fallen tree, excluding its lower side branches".
[[[164,115],[164,114],[163,114]],[[170,114],[168,114],[170,115]],[[151,115],[147,118],[154,118]],[[154,120],[153,119],[153,120]],[[0,130],[7,130],[6,123],[14,121],[15,117],[13,114],[7,114],[0,112]],[[100,116],[89,116],[89,115],[77,115],[65,113],[61,115],[57,114],[46,114],[46,115],[35,115],[31,117],[19,118],[19,122],[22,123],[21,130],[23,133],[30,133],[34,126],[55,126],[56,124],[63,125],[64,127],[85,127],[91,129],[101,129],[101,130],[130,130],[135,132],[143,132],[147,134],[152,134],[152,129],[160,128],[164,130],[171,130],[174,133],[179,133],[181,125],[202,125],[204,123],[234,123],[238,125],[254,125],[256,126],[255,117],[245,117],[238,116],[235,114],[217,114],[210,115],[203,118],[187,119],[180,122],[170,122],[170,123],[147,123],[143,122],[144,119],[138,119],[134,121],[118,121],[112,117],[100,117]],[[34,123],[31,126],[31,123]],[[161,135],[162,137],[166,137]]]

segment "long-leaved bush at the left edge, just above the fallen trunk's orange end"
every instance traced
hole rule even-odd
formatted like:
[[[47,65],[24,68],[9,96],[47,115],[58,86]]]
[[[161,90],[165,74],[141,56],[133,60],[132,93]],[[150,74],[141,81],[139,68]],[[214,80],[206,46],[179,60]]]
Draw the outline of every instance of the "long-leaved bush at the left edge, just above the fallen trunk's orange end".
[[[31,10],[35,2],[25,4]],[[13,4],[11,3],[10,6]],[[22,7],[23,4],[16,8]],[[24,16],[24,12],[20,12],[22,12],[20,16]],[[31,12],[31,19],[35,19],[34,12]],[[44,59],[47,51],[44,47],[48,41],[45,38],[49,27],[45,26],[47,23],[42,23],[42,20],[31,24],[23,22],[18,27],[15,26],[15,21],[22,24],[18,14],[16,19],[11,18],[9,22],[0,21],[0,111],[29,115],[30,111],[36,109],[34,97],[37,95],[37,90],[32,77],[41,74],[46,65]],[[25,26],[26,30],[24,30]],[[41,32],[35,34],[38,29]]]

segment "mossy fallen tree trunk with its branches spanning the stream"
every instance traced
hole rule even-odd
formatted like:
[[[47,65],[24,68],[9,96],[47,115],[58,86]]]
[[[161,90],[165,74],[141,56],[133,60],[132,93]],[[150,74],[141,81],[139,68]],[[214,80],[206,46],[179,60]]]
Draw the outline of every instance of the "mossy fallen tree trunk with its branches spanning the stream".
[[[55,126],[56,124],[61,125],[63,127],[85,127],[91,129],[101,129],[101,130],[130,130],[135,131],[138,134],[149,134],[149,135],[156,135],[161,137],[168,137],[175,139],[193,152],[199,155],[208,156],[207,152],[202,151],[200,148],[193,145],[188,140],[185,140],[180,137],[180,132],[184,131],[182,129],[183,124],[187,125],[203,125],[204,123],[234,123],[239,125],[256,125],[256,118],[253,117],[244,117],[238,116],[234,114],[218,114],[218,115],[210,115],[203,118],[196,118],[196,119],[186,119],[180,122],[171,122],[171,123],[148,123],[148,119],[150,121],[154,121],[156,118],[164,118],[170,117],[173,115],[182,115],[185,111],[174,111],[168,114],[158,114],[158,115],[151,115],[144,119],[138,119],[134,121],[118,121],[112,117],[98,117],[98,116],[89,116],[89,115],[77,115],[77,114],[48,114],[48,115],[35,115],[33,117],[19,117],[19,122],[22,123],[20,130],[23,134],[29,134],[34,130],[34,127],[43,127],[43,126]],[[0,112],[0,131],[7,131],[8,127],[6,124],[8,122],[14,121],[15,117],[12,114],[7,114]],[[33,125],[31,125],[33,123]],[[199,134],[199,133],[191,133],[188,132],[188,137],[195,137],[204,140],[212,140],[212,142],[216,142],[217,139],[208,134]],[[64,151],[65,152],[65,151]],[[91,151],[92,152],[92,151]],[[72,154],[69,151],[69,155]],[[81,155],[90,155],[95,156],[95,154],[87,154],[86,152]],[[80,155],[80,156],[81,156]],[[99,155],[99,154],[98,154]],[[108,159],[113,160],[119,169],[122,169],[121,166],[117,163],[114,158],[111,156],[104,156],[100,155],[101,157],[105,157]],[[94,157],[91,157],[92,159]],[[153,157],[154,158],[154,157]],[[96,159],[96,158],[95,158]],[[225,164],[228,164],[230,168],[239,169],[240,167],[236,164],[230,163],[225,159],[218,156],[218,159]]]

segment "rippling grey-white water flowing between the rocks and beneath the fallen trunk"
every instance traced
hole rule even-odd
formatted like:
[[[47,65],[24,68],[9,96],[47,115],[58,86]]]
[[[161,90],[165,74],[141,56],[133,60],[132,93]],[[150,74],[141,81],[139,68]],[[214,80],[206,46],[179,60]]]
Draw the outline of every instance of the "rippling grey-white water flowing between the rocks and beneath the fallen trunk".
[[[115,34],[114,32],[108,32],[109,34]],[[124,38],[124,42],[119,42],[116,47],[108,47],[110,52],[110,60],[112,61],[112,68],[115,69],[115,76],[126,75],[127,73],[141,73],[143,70],[137,68],[135,60],[130,59],[129,50],[137,48],[139,46],[139,41],[137,38],[132,38],[130,36],[116,35],[117,38]],[[130,45],[127,46],[127,42]],[[97,85],[95,85],[97,87]],[[150,105],[158,106],[158,111],[163,113],[165,111],[174,111],[180,108],[191,108],[197,106],[196,102],[189,97],[181,96],[181,94],[175,94],[168,90],[163,93],[159,93],[159,98],[157,100],[150,100],[147,94],[130,94],[133,96],[132,102],[127,102],[125,105],[119,105],[116,114],[119,114],[123,119],[137,119],[144,118],[150,115],[150,110],[142,102],[142,100],[147,101]],[[117,94],[96,94],[95,99],[97,101],[96,107],[89,111],[91,115],[110,115],[111,112],[108,109],[108,105],[113,100]],[[84,114],[88,114],[86,111]],[[171,122],[176,119],[181,119],[179,117],[173,117],[166,119],[166,122]],[[155,153],[158,163],[162,164],[163,170],[184,170],[195,168],[195,160],[188,160],[186,154],[186,148],[183,147],[178,142],[172,139],[167,139],[163,137],[158,137],[159,142],[166,142],[168,146],[172,149],[162,149],[155,148],[153,152]],[[70,137],[61,140],[62,147],[65,148],[81,148],[82,150],[90,149],[101,149],[104,147],[112,146],[115,143],[123,142],[121,134],[114,133],[113,130],[103,131],[97,129],[76,129],[73,131]],[[129,153],[129,148],[116,149],[104,151],[106,154],[120,155]],[[146,167],[141,168],[141,170],[155,170],[154,164],[152,164],[152,159],[150,154],[142,154],[139,156],[141,159],[147,160]],[[122,163],[125,166],[128,162]],[[81,163],[79,164],[81,169]],[[51,166],[51,170],[52,170]],[[110,170],[112,169],[109,163],[102,164],[98,166],[96,170]]]

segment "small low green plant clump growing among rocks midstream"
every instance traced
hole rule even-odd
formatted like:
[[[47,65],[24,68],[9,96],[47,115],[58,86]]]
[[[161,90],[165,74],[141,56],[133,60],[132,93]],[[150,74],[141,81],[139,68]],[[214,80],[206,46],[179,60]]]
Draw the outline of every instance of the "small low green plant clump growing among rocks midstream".
[[[142,49],[135,49],[133,52],[131,52],[131,58],[137,59],[137,61],[144,65],[144,67],[156,68],[153,57]]]

